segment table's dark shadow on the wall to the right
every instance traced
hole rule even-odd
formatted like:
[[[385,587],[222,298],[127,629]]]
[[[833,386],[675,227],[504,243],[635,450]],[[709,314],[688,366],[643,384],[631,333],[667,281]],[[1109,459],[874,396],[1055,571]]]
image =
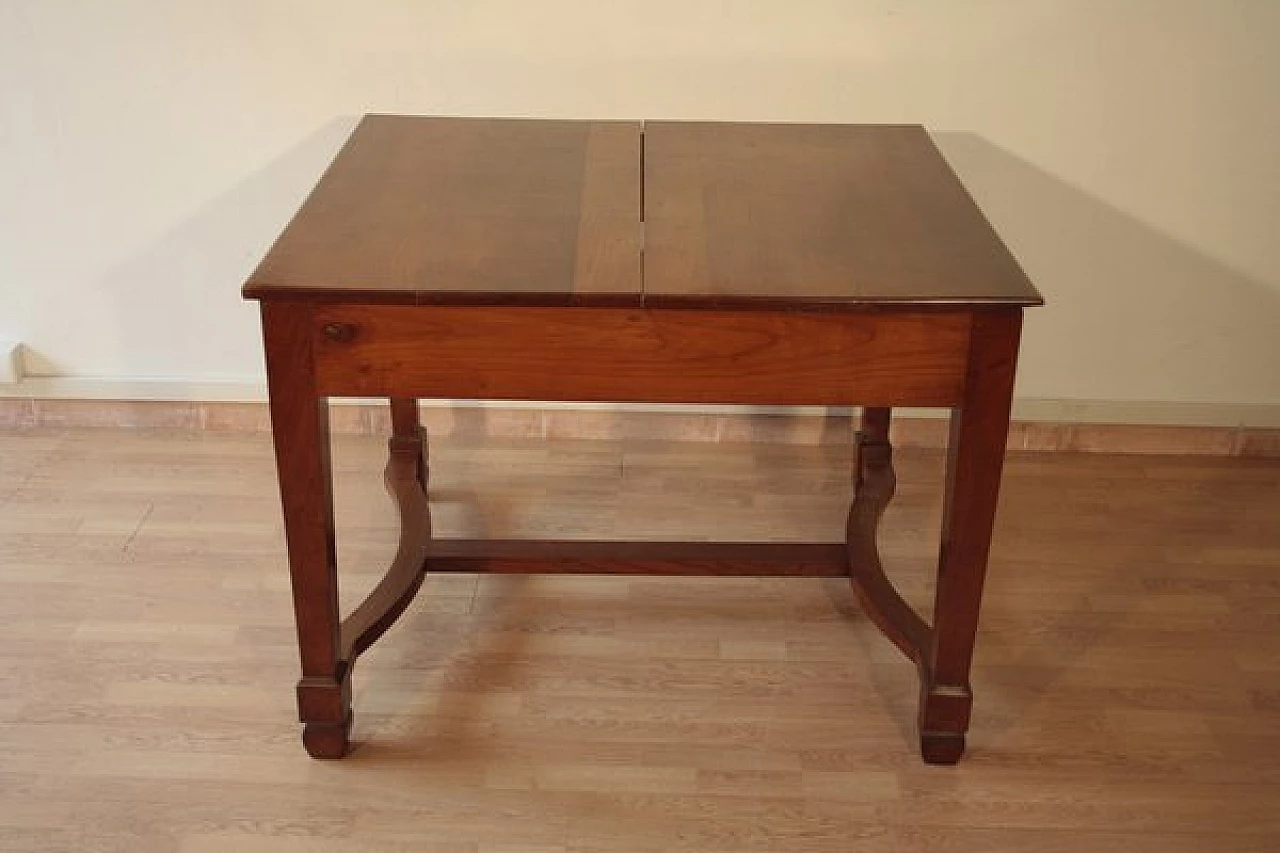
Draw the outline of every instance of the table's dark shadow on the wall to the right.
[[[1027,315],[1020,394],[1280,403],[1280,287],[980,136],[934,141],[1044,295]]]

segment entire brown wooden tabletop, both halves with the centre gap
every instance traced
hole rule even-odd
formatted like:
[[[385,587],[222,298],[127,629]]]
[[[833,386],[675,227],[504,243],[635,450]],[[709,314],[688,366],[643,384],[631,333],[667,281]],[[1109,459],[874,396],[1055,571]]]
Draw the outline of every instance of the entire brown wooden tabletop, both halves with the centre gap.
[[[1010,307],[1041,296],[919,126],[365,117],[250,298]]]

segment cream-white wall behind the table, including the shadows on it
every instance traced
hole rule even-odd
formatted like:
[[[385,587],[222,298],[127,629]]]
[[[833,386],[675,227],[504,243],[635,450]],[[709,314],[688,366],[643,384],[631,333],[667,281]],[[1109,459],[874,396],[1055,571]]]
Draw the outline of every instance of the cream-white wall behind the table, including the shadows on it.
[[[365,111],[920,122],[1050,301],[1021,397],[1280,411],[1277,44],[1277,0],[0,0],[0,338],[260,382],[238,286]]]

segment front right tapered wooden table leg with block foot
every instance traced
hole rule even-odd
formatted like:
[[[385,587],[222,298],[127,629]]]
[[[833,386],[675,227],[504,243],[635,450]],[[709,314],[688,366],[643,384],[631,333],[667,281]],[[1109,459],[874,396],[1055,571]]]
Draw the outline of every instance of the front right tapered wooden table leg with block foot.
[[[1021,311],[974,314],[965,388],[951,412],[932,646],[920,684],[920,752],[960,760],[973,690],[969,666],[996,519]]]

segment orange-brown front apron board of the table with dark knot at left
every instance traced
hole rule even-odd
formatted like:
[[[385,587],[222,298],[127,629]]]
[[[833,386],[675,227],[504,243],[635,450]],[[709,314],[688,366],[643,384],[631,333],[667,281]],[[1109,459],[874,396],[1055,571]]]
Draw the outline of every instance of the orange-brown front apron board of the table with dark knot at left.
[[[952,407],[973,327],[963,310],[306,310],[330,397]]]

